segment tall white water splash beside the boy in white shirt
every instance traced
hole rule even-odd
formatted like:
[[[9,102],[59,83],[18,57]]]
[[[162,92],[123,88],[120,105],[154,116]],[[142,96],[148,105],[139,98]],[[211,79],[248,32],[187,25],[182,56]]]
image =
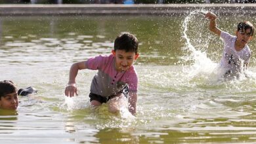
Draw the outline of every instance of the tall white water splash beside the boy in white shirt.
[[[238,79],[234,79],[232,76],[228,77],[228,79],[223,78],[224,73],[226,73],[226,69],[221,68],[218,63],[215,63],[208,58],[207,54],[211,57],[215,57],[212,52],[206,52],[210,44],[209,40],[212,37],[215,37],[215,35],[208,32],[209,30],[206,26],[208,26],[209,22],[207,20],[200,19],[204,18],[206,12],[207,11],[205,10],[194,10],[190,12],[182,22],[182,37],[185,40],[185,46],[183,49],[186,51],[186,56],[183,56],[182,60],[184,61],[183,63],[191,62],[188,67],[183,67],[183,72],[186,73],[190,79],[194,79],[195,77],[202,75],[207,79],[210,77],[211,81],[217,81],[218,83],[220,80],[231,80],[240,83],[241,81],[246,81],[248,77],[250,79],[255,79],[253,72],[251,71],[246,71],[246,73],[248,73],[248,77],[245,77],[244,72],[242,71],[239,74],[240,77],[238,77]],[[207,35],[205,31],[210,35]],[[230,84],[230,82],[228,82],[228,84]]]

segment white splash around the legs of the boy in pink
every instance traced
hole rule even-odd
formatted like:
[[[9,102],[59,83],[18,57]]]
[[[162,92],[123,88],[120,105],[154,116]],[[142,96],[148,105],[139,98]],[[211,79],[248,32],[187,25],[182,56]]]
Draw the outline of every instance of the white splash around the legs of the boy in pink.
[[[89,119],[96,119],[94,120],[93,125],[98,129],[129,128],[130,126],[134,126],[136,120],[135,116],[131,115],[128,110],[127,98],[119,96],[117,99],[119,99],[117,103],[119,105],[118,113],[110,112],[110,102],[102,103],[102,105],[98,107],[92,107],[89,102],[81,101],[78,97],[66,97],[65,102],[61,107],[62,109],[65,109],[66,112],[71,112],[72,118],[75,118],[76,120],[85,118],[85,115],[88,115]],[[79,117],[77,117],[77,115],[79,115]]]

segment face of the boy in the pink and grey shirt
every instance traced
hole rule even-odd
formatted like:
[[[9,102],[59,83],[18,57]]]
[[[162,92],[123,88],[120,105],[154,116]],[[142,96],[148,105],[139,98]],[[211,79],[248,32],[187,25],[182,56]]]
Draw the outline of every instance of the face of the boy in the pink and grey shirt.
[[[139,57],[139,54],[125,52],[125,50],[116,50],[116,52],[112,50],[112,54],[115,56],[117,71],[127,71],[133,65],[134,60]]]

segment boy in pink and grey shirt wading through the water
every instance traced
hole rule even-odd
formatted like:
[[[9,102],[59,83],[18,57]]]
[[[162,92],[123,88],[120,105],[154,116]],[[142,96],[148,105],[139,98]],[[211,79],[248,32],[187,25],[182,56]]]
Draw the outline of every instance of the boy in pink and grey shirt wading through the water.
[[[119,35],[114,42],[114,50],[110,56],[96,56],[83,62],[77,62],[70,68],[68,86],[65,95],[73,97],[77,95],[75,77],[78,70],[98,70],[97,75],[91,82],[89,98],[91,105],[99,106],[108,101],[108,109],[112,113],[119,111],[118,105],[121,97],[128,96],[128,109],[133,115],[136,114],[137,83],[138,77],[133,62],[139,57],[139,42],[130,33]]]

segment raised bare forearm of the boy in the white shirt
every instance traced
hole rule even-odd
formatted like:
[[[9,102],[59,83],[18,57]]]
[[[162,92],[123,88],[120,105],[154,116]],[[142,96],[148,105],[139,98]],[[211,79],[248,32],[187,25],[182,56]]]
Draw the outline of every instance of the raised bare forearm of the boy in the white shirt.
[[[205,14],[205,18],[208,18],[210,20],[209,30],[212,31],[213,33],[221,36],[221,29],[219,29],[216,24],[217,16],[215,14],[213,14],[213,12],[207,12]]]

